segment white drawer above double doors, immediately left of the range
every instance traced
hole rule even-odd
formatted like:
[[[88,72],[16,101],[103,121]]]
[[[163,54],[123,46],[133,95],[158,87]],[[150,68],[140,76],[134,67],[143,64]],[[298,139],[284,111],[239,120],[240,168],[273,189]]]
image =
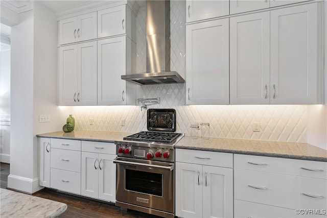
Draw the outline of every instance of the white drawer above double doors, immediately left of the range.
[[[82,141],[82,151],[115,155],[116,146],[108,142]]]

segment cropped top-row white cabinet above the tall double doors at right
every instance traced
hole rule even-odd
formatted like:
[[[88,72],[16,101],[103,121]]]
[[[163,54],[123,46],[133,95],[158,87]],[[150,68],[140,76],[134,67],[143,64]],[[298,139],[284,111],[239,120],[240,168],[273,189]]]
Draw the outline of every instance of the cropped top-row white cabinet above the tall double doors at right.
[[[306,2],[308,0],[230,0],[230,14],[238,14],[277,6]],[[228,2],[228,1],[227,1]]]

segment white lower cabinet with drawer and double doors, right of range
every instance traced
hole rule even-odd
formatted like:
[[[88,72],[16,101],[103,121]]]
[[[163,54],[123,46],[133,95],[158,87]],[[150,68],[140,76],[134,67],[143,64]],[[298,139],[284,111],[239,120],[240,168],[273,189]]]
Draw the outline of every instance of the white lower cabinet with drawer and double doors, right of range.
[[[176,149],[175,190],[179,217],[233,217],[232,154]]]

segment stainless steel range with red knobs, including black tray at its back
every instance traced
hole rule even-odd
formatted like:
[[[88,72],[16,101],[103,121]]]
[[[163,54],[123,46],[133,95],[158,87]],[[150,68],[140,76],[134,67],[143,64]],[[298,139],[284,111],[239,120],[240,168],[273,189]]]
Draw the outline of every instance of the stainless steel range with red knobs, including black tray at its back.
[[[174,109],[148,109],[148,130],[115,141],[116,206],[163,217],[175,214]]]

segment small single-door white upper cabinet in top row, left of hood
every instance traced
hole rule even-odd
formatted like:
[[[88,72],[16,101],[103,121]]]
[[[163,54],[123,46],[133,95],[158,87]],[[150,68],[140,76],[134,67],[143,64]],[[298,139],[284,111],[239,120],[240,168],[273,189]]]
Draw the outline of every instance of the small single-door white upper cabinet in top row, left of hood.
[[[135,19],[127,5],[98,11],[98,38],[127,34],[132,36]]]

